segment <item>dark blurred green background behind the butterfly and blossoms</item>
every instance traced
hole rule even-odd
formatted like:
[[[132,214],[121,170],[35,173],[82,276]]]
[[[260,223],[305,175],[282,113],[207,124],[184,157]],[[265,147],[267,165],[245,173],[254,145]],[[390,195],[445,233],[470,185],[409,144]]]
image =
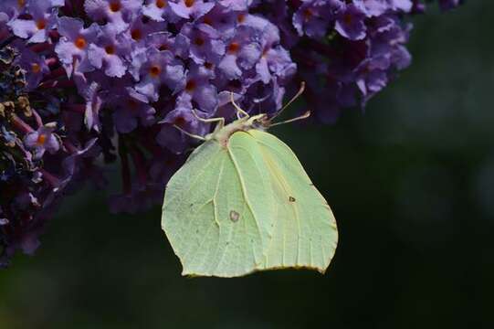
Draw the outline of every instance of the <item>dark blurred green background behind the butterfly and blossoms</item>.
[[[492,328],[494,2],[414,18],[414,63],[335,126],[274,133],[337,218],[326,275],[188,279],[160,207],[72,196],[0,271],[0,328]]]

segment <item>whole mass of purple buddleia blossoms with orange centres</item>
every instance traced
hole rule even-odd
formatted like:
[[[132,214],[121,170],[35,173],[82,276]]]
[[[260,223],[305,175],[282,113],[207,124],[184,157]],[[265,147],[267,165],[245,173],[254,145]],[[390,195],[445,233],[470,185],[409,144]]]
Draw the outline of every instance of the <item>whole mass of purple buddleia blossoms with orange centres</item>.
[[[98,162],[121,163],[113,210],[161,202],[194,146],[176,126],[204,135],[194,112],[231,120],[232,93],[246,111],[274,114],[306,81],[307,105],[334,122],[409,65],[404,17],[424,10],[418,0],[2,0],[4,262],[36,249],[80,177],[103,186]]]

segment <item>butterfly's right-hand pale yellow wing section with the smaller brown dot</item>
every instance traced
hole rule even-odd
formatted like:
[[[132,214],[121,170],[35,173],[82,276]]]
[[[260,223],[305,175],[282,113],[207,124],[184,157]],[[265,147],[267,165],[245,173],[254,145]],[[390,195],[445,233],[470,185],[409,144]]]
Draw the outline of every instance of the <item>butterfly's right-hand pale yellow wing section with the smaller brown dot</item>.
[[[331,208],[287,144],[270,133],[248,133],[258,142],[268,166],[277,205],[273,236],[258,269],[326,271],[338,241]]]

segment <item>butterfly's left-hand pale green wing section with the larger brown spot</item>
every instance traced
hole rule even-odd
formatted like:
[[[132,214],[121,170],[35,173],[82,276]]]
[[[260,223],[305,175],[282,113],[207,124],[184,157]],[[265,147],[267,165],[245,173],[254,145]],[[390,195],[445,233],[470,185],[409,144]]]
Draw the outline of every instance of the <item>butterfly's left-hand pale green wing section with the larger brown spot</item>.
[[[233,277],[256,270],[268,249],[274,202],[258,143],[234,133],[208,141],[170,179],[162,227],[183,275]]]

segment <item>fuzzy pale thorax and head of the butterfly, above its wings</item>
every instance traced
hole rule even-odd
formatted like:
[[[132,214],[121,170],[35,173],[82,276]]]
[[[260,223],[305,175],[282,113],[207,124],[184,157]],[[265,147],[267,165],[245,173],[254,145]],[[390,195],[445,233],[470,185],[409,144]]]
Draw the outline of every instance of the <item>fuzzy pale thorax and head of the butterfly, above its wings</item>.
[[[247,132],[251,129],[266,130],[268,128],[268,114],[262,113],[251,117],[244,116],[234,122],[226,124],[226,126],[217,125],[213,133],[205,136],[205,139],[214,140],[220,143],[223,147],[228,145],[230,136],[236,132]]]

